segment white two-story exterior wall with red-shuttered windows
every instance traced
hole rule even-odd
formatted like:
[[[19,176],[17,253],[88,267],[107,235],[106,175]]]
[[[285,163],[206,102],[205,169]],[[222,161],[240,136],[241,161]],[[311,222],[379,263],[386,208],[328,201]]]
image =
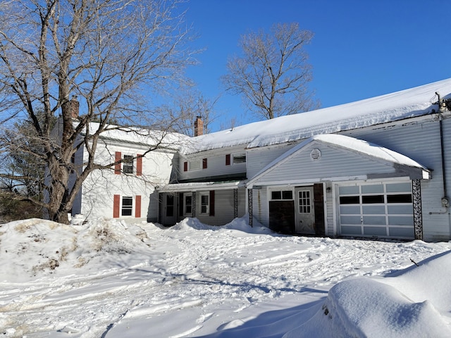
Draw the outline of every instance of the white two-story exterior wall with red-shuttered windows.
[[[108,164],[114,162],[116,151],[121,155],[144,154],[146,149],[140,146],[112,145],[101,146],[97,149],[97,163]],[[87,152],[84,154],[87,157]],[[87,177],[82,186],[81,213],[89,218],[113,218],[113,196],[120,195],[133,197],[132,216],[120,216],[121,219],[135,218],[135,196],[141,196],[141,218],[147,220],[158,214],[158,199],[151,194],[155,186],[168,184],[171,177],[172,162],[174,154],[168,151],[151,151],[142,158],[142,175],[136,174],[136,163],[134,161],[134,174],[116,175],[114,168],[108,170],[94,170]],[[154,214],[155,215],[154,215]]]

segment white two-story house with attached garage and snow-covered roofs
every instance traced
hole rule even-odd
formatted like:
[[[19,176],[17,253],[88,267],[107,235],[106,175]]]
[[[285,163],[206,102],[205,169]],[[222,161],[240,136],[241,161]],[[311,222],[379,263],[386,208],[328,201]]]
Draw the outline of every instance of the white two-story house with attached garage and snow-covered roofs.
[[[149,139],[111,132],[98,156],[134,160],[89,177],[73,213],[163,225],[246,215],[289,234],[448,241],[450,102],[448,79],[211,134],[197,128],[184,146],[147,154]]]

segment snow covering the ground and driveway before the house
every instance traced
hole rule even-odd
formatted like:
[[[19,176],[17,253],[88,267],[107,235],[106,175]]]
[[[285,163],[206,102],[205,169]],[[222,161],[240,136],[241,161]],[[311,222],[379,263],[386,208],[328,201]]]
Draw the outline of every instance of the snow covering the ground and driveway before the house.
[[[451,337],[450,249],[283,236],[245,218],[17,221],[0,225],[0,335]]]

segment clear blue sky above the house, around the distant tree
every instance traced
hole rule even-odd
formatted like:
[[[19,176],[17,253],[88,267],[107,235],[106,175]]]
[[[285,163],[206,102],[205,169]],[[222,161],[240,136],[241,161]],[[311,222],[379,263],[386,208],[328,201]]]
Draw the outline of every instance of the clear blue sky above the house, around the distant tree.
[[[311,89],[321,106],[335,106],[451,77],[450,0],[190,0],[187,22],[197,32],[200,65],[188,75],[209,99],[222,94],[214,131],[258,120],[219,77],[240,35],[273,23],[314,32],[307,46]]]

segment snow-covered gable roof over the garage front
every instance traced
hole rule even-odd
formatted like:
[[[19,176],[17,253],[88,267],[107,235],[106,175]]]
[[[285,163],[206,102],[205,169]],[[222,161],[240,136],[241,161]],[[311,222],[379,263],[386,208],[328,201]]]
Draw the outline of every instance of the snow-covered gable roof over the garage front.
[[[305,146],[311,144],[311,142],[321,142],[323,144],[330,144],[331,146],[339,147],[341,149],[345,149],[348,151],[354,151],[359,154],[363,154],[364,156],[369,156],[374,159],[378,159],[381,161],[385,161],[388,163],[394,163],[396,165],[407,166],[410,168],[418,168],[424,178],[428,177],[428,173],[430,170],[426,168],[421,163],[418,163],[412,158],[404,156],[396,151],[387,149],[383,146],[379,146],[378,144],[374,144],[371,142],[366,142],[362,139],[356,139],[354,137],[349,137],[340,134],[319,134],[309,137],[303,142],[293,146],[291,149],[286,151],[284,154],[280,155],[274,161],[266,165],[263,169],[257,173],[254,177],[252,177],[248,182],[247,186],[252,187],[252,184],[256,180],[258,180],[262,175],[265,175],[269,170],[273,170],[276,166],[282,164],[284,161],[287,161],[289,158],[294,156],[298,151],[304,149]]]

